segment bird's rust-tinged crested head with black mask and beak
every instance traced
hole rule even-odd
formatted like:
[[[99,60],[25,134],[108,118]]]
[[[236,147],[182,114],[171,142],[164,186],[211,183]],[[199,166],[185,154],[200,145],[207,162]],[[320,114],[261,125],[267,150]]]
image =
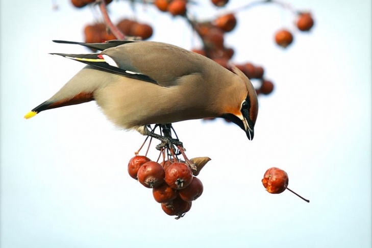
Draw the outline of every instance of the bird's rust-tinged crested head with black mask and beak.
[[[251,81],[235,66],[232,67],[233,72],[245,83],[245,89],[235,91],[235,96],[229,96],[235,104],[230,106],[227,113],[221,117],[231,120],[245,131],[246,136],[252,140],[254,137],[254,127],[258,114],[258,101],[256,90]],[[240,83],[241,84],[241,83]]]

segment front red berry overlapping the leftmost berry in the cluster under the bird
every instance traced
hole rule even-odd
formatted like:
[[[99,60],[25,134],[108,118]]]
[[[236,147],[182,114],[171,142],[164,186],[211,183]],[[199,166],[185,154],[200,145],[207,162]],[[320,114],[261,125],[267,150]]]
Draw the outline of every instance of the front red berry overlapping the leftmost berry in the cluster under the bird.
[[[154,188],[164,182],[164,168],[161,164],[150,161],[144,163],[137,173],[138,182],[147,188]]]

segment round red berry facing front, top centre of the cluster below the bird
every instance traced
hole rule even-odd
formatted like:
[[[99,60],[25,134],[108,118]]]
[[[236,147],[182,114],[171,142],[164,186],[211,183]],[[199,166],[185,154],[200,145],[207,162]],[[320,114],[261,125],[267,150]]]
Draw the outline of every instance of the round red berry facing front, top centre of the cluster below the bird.
[[[174,189],[186,188],[192,180],[192,171],[185,163],[172,163],[165,171],[165,182]]]

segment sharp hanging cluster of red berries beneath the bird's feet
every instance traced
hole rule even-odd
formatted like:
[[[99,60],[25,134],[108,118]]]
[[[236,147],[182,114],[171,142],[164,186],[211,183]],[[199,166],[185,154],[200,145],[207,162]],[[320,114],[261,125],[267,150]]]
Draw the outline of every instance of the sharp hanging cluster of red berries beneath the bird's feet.
[[[162,163],[136,155],[128,164],[128,173],[146,188],[153,189],[155,201],[168,215],[183,217],[191,202],[203,193],[203,184],[196,178],[209,158],[191,159],[193,169],[184,161],[174,159]]]

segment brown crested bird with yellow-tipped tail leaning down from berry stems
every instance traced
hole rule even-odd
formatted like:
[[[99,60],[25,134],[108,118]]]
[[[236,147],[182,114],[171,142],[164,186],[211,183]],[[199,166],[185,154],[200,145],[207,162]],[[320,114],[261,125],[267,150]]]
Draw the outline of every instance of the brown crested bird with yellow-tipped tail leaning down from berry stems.
[[[44,110],[95,101],[116,127],[155,137],[164,145],[182,142],[155,134],[150,125],[222,117],[244,130],[249,140],[254,137],[256,90],[234,65],[229,70],[203,55],[156,41],[54,42],[101,52],[51,53],[86,66],[26,119]]]

